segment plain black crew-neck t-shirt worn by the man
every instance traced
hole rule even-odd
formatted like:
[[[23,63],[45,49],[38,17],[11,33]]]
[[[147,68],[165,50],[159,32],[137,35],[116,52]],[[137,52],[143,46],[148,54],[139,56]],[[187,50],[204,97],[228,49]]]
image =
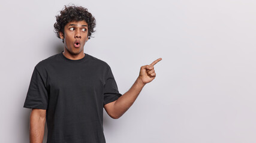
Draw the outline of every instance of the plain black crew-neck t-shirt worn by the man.
[[[92,55],[71,60],[62,52],[35,66],[23,107],[46,110],[47,143],[106,142],[104,105],[122,95],[112,70]]]

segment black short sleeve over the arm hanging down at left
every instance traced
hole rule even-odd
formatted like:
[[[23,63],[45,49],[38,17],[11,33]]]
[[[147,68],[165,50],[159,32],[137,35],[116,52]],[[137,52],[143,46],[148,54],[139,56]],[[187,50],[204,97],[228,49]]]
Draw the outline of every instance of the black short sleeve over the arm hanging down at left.
[[[41,76],[35,67],[23,105],[24,108],[47,109],[48,93],[44,81],[46,81],[45,77]]]

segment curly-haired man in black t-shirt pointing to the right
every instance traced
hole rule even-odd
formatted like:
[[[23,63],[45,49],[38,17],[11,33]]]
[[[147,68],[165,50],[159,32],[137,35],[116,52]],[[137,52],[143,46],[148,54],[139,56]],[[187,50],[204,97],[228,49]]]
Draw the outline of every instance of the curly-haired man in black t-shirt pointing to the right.
[[[54,25],[64,51],[40,61],[34,68],[23,107],[32,108],[30,142],[106,142],[103,108],[113,119],[128,110],[146,83],[155,79],[154,65],[142,66],[140,74],[124,95],[118,91],[110,66],[84,53],[94,32],[95,18],[86,8],[70,6],[56,16]]]

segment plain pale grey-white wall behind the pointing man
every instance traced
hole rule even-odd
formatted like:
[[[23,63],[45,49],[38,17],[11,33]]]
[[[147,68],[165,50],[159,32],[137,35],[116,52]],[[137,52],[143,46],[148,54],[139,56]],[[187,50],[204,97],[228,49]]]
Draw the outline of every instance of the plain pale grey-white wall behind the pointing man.
[[[162,58],[121,118],[104,111],[107,142],[256,142],[252,0],[1,2],[0,142],[29,142],[32,71],[64,49],[53,24],[70,2],[95,16],[85,52],[110,65],[121,94]]]

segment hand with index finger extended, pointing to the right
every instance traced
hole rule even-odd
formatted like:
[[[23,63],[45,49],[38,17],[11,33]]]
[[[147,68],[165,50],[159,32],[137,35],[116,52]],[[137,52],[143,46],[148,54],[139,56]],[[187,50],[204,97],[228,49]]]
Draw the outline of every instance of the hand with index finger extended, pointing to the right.
[[[158,58],[158,60],[153,61],[153,63],[140,67],[138,79],[140,79],[143,84],[146,85],[146,83],[149,83],[155,79],[156,73],[153,66],[161,60],[162,58]]]

